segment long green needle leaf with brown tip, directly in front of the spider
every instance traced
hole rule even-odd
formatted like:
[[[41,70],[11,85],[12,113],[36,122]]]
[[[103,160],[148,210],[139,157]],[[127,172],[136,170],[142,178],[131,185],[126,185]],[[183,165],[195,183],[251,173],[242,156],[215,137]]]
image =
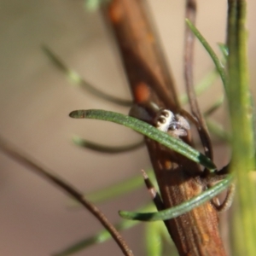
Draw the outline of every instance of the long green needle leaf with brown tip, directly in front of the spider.
[[[75,110],[70,113],[69,116],[76,119],[101,119],[111,121],[119,125],[125,125],[126,127],[129,127],[134,131],[138,131],[154,141],[161,143],[167,148],[171,148],[177,153],[183,154],[190,160],[200,163],[202,166],[207,167],[211,172],[216,171],[216,166],[204,154],[201,154],[199,151],[195,150],[195,148],[191,148],[188,144],[183,143],[182,140],[171,137],[167,133],[159,131],[154,126],[148,125],[139,119],[135,119],[121,113],[96,109]]]

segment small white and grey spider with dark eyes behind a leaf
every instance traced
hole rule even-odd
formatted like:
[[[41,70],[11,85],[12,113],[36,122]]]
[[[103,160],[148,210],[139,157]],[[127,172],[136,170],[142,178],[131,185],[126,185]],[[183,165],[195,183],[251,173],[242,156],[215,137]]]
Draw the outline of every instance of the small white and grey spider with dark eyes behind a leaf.
[[[156,128],[170,133],[173,137],[187,136],[190,129],[189,122],[180,114],[174,114],[171,110],[160,109],[155,119]]]

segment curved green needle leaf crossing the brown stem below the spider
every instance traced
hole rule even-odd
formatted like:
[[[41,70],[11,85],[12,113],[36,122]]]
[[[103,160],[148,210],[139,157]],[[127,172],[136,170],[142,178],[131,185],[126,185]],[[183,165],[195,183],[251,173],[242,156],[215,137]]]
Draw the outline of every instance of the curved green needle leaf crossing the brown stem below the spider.
[[[156,221],[156,220],[166,220],[170,218],[177,218],[178,216],[191,211],[195,207],[199,207],[206,201],[211,200],[214,196],[218,195],[224,189],[226,189],[230,183],[233,181],[233,176],[229,175],[223,181],[214,185],[211,189],[207,189],[200,195],[195,196],[189,201],[185,201],[177,207],[172,207],[160,212],[125,212],[120,211],[119,215],[122,218],[141,220],[141,221]]]

